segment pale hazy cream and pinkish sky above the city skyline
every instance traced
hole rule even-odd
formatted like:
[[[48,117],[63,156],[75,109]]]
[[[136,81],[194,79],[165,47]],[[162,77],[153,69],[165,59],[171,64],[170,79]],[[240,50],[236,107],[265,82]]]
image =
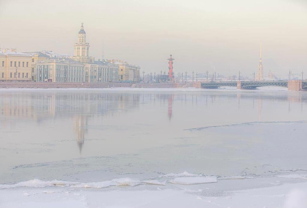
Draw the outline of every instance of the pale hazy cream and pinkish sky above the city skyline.
[[[0,47],[73,54],[81,22],[90,55],[149,72],[307,76],[305,0],[0,0]]]

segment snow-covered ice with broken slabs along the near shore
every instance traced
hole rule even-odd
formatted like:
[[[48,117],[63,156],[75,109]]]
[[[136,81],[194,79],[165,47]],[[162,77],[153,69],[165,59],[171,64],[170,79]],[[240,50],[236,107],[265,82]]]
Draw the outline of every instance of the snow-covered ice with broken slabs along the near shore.
[[[172,178],[170,180],[165,180]],[[157,180],[114,179],[94,183],[30,180],[0,185],[0,207],[307,207],[307,183],[284,183],[283,179],[306,180],[307,175],[247,179],[203,177],[187,172]],[[253,189],[240,184],[267,184]],[[263,186],[263,185],[262,185]]]

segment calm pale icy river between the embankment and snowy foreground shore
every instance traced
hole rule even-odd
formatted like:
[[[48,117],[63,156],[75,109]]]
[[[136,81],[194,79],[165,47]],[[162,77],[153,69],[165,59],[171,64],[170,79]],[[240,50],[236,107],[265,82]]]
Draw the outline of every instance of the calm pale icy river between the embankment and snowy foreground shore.
[[[245,178],[207,191],[304,182],[306,124],[305,92],[1,89],[0,184],[161,181],[184,172]]]

